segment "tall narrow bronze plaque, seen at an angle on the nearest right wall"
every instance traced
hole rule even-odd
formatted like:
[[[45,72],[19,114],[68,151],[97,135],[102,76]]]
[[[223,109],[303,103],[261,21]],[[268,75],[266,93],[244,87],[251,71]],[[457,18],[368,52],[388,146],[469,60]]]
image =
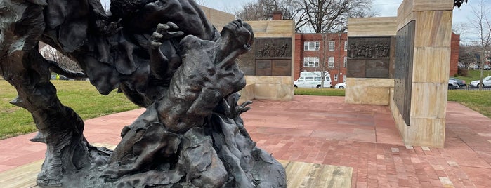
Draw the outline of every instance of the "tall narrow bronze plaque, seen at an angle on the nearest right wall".
[[[408,126],[411,123],[414,27],[413,20],[397,32],[395,48],[394,102]]]

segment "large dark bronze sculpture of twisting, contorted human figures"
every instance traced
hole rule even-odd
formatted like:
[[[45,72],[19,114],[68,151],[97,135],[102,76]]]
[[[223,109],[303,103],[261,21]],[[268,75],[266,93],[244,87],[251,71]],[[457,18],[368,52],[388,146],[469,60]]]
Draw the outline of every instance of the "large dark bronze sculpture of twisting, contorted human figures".
[[[44,59],[39,41],[83,72]],[[286,187],[284,168],[256,147],[236,92],[235,59],[250,50],[251,27],[218,32],[192,0],[0,1],[0,74],[18,91],[45,142],[40,187]],[[146,111],[121,131],[114,151],[93,147],[84,121],[56,96],[51,72],[88,77]]]

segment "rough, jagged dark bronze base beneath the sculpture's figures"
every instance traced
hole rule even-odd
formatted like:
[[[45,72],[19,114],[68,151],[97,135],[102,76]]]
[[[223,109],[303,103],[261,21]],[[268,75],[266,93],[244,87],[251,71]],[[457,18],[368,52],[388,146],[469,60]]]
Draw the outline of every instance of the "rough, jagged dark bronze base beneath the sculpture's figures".
[[[286,187],[282,164],[256,147],[240,117],[230,119],[213,114],[204,126],[183,134],[171,133],[159,123],[139,126],[133,123],[124,129],[123,140],[112,154],[108,155],[102,147],[89,147],[90,164],[63,173],[60,180],[46,180],[49,175],[41,172],[37,184],[40,187]],[[131,148],[129,142],[133,143]]]

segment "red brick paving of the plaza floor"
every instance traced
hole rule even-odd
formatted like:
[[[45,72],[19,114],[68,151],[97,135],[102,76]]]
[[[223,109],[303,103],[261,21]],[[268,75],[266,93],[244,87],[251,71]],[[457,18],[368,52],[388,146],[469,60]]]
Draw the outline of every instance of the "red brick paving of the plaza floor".
[[[352,167],[352,187],[491,187],[491,119],[447,102],[445,147],[405,146],[388,107],[343,101],[254,100],[242,117],[258,147],[277,159]],[[121,128],[143,111],[87,120],[87,140],[116,145]],[[44,158],[46,147],[29,142],[33,136],[0,140],[0,172]]]

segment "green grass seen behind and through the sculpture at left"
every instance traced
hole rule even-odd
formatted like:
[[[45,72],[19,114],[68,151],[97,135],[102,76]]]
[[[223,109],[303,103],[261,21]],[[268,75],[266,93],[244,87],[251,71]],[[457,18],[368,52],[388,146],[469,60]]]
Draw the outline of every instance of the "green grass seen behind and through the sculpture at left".
[[[82,119],[138,108],[122,93],[113,91],[106,96],[100,95],[89,81],[52,82],[63,105],[72,107]],[[0,80],[0,88],[0,139],[36,131],[31,114],[8,103],[17,95],[15,88],[4,80]]]

